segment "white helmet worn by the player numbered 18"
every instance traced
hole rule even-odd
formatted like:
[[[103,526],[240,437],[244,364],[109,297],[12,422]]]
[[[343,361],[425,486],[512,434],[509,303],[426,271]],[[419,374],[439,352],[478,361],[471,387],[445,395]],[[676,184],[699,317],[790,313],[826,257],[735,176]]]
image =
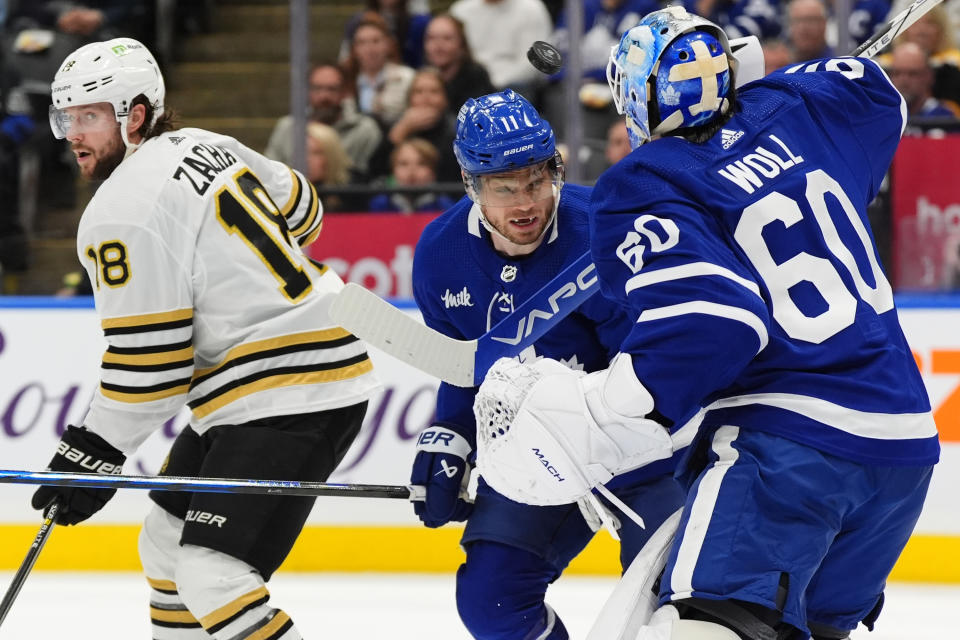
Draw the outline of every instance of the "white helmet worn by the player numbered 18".
[[[166,93],[163,74],[153,54],[133,38],[114,38],[84,45],[67,56],[50,85],[50,128],[65,138],[71,119],[65,109],[97,102],[109,102],[120,135],[129,148],[127,117],[134,98],[143,94],[153,106],[154,124],[163,113]]]

